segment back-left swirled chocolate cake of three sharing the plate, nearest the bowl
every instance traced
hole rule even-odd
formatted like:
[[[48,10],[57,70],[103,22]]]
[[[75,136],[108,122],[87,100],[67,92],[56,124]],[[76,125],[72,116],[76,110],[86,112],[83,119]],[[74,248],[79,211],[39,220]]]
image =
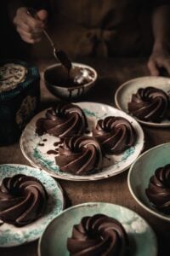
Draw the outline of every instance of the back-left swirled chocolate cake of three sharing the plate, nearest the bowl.
[[[82,135],[88,122],[82,109],[77,105],[59,102],[46,112],[46,117],[37,120],[37,134],[48,133],[56,137]]]

